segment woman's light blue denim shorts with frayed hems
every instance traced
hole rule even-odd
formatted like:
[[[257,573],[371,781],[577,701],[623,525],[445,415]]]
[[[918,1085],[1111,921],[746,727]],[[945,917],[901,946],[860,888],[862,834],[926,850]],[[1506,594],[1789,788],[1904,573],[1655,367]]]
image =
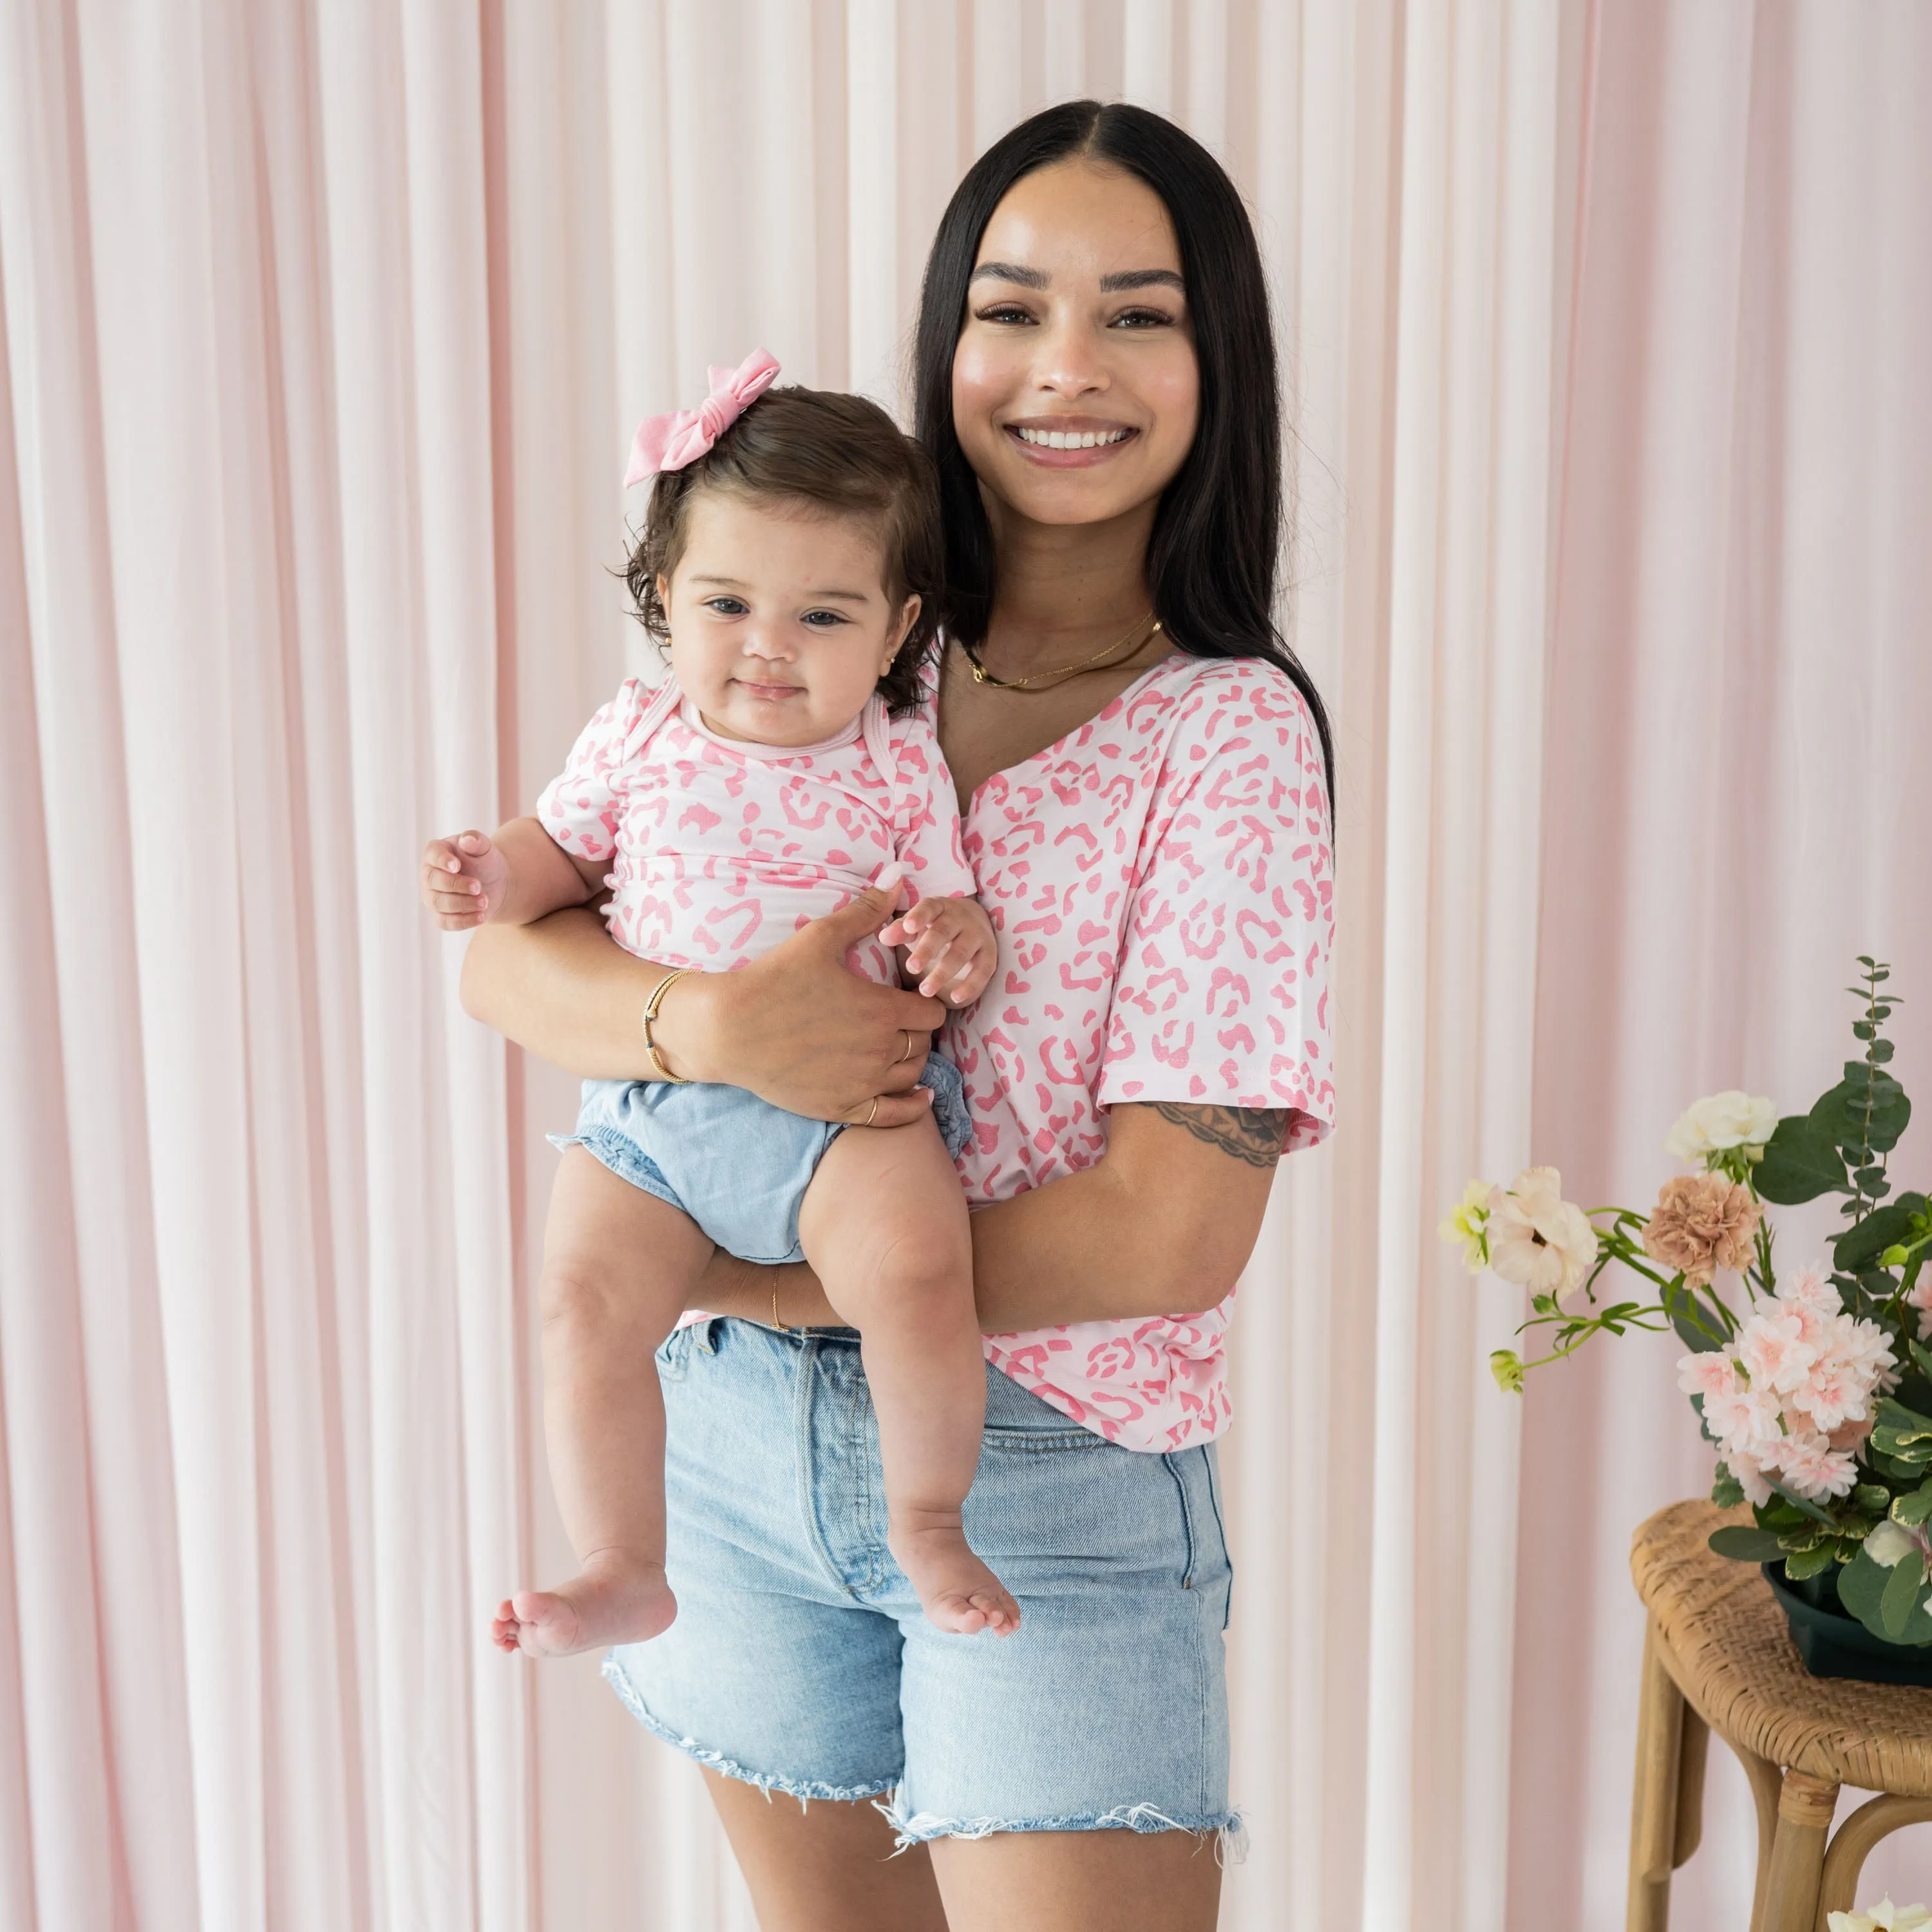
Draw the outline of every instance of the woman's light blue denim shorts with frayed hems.
[[[885,1548],[858,1337],[711,1320],[659,1352],[676,1623],[605,1677],[726,1777],[879,1799],[900,1845],[1238,1832],[1211,1447],[1146,1455],[987,1370],[966,1499],[1012,1636],[933,1629]]]

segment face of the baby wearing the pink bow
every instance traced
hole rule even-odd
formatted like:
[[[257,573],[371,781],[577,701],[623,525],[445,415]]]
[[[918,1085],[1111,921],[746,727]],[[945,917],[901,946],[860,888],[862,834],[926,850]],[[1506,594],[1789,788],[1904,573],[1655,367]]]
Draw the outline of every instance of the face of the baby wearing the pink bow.
[[[819,744],[866,709],[920,601],[893,609],[862,518],[705,491],[659,595],[670,668],[721,738]]]

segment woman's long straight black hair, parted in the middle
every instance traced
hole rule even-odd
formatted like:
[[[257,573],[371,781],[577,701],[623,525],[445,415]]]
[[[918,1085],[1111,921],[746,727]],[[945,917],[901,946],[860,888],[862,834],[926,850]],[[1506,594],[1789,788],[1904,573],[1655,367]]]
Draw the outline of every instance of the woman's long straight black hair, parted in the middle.
[[[1254,224],[1221,164],[1171,120],[1124,102],[1066,100],[1001,135],[952,191],[925,259],[914,346],[914,433],[939,466],[947,628],[966,643],[993,614],[993,531],[952,427],[952,354],[993,209],[1022,176],[1074,155],[1146,182],[1167,205],[1200,361],[1194,446],[1161,493],[1148,545],[1153,614],[1192,657],[1265,657],[1308,701],[1329,811],[1335,742],[1314,678],[1275,628],[1281,562],[1281,390]]]

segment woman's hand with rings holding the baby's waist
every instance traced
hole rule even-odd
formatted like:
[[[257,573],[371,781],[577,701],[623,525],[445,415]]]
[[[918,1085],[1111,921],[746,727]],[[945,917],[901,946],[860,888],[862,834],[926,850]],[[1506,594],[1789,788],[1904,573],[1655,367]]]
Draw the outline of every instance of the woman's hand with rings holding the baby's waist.
[[[651,1026],[670,1070],[746,1088],[813,1121],[916,1121],[931,1107],[918,1078],[945,1009],[846,966],[896,896],[896,883],[873,887],[740,972],[680,980]]]

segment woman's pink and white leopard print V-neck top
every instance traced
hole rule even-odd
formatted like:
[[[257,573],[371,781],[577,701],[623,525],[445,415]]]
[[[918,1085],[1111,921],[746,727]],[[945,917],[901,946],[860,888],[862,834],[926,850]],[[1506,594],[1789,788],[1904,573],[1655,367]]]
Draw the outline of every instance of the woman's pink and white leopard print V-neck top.
[[[999,970],[943,1036],[974,1113],[968,1200],[1092,1165],[1119,1101],[1281,1107],[1289,1151],[1327,1136],[1329,837],[1314,721],[1256,659],[1169,657],[980,786],[966,858]],[[1231,1304],[985,1352],[1109,1441],[1182,1449],[1227,1428]]]

